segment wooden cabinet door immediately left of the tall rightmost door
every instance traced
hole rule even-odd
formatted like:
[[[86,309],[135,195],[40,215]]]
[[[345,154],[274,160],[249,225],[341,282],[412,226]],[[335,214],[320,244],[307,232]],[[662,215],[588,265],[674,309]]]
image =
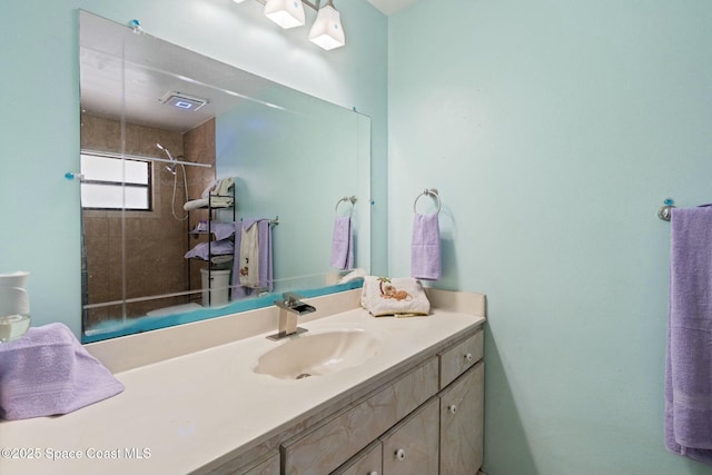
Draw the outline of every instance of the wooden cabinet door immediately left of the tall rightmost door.
[[[438,398],[433,398],[383,437],[383,475],[437,474]]]

